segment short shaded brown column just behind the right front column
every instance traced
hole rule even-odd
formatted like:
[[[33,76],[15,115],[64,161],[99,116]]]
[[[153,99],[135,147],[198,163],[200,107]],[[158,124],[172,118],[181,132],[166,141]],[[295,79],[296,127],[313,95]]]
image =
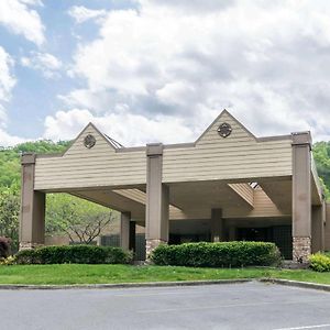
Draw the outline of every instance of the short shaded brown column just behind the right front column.
[[[324,251],[326,202],[311,209],[311,252]]]

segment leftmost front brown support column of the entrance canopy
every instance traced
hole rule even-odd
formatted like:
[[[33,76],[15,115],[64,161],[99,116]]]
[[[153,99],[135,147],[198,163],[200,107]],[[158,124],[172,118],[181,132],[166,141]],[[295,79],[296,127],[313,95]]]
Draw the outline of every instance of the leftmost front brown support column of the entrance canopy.
[[[22,164],[20,250],[45,243],[45,194],[34,190],[35,154],[24,154]]]

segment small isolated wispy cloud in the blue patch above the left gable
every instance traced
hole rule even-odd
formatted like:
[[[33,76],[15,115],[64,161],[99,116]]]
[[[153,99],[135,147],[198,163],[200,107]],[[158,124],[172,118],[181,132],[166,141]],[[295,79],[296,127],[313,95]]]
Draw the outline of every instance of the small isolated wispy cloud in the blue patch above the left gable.
[[[62,68],[62,62],[48,53],[31,52],[30,56],[21,58],[21,65],[40,70],[45,78],[59,77],[58,70]]]

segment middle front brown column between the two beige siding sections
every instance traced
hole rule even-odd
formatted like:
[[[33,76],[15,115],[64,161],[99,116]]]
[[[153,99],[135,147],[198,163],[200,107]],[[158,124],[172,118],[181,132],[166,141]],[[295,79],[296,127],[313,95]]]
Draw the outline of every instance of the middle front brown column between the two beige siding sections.
[[[168,241],[169,189],[162,184],[163,144],[146,145],[145,252]]]

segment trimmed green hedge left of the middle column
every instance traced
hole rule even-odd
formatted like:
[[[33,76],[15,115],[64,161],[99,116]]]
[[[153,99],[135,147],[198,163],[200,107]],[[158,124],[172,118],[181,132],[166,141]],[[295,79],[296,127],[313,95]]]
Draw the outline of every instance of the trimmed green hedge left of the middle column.
[[[121,248],[92,245],[44,246],[15,255],[16,264],[128,264],[131,261],[132,253]]]

